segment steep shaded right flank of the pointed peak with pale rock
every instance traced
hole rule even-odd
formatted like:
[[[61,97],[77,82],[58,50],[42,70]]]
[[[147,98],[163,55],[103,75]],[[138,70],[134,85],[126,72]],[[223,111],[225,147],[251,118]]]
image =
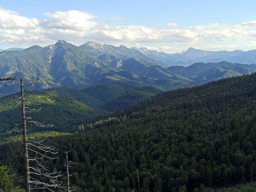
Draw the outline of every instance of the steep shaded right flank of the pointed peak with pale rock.
[[[63,86],[78,88],[88,85],[95,80],[94,78],[111,69],[87,52],[65,41],[58,41],[48,48],[52,54],[50,75]]]

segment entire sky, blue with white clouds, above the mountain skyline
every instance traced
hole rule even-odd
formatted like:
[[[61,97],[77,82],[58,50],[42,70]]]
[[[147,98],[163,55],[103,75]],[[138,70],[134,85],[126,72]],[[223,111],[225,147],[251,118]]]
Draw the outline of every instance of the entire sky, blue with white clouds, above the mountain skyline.
[[[254,0],[1,0],[0,49],[58,40],[167,53],[256,49]]]

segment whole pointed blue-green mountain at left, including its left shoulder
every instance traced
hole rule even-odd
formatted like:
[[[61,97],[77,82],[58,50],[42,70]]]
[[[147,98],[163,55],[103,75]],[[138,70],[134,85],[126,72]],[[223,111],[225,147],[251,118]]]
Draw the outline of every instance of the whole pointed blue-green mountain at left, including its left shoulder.
[[[0,62],[1,77],[23,77],[28,83],[33,78],[40,77],[35,83],[35,89],[56,86],[81,88],[113,70],[87,52],[63,40],[44,48],[32,46],[21,51],[1,52]],[[15,91],[18,91],[18,87]],[[8,92],[8,89],[4,89],[3,92]]]

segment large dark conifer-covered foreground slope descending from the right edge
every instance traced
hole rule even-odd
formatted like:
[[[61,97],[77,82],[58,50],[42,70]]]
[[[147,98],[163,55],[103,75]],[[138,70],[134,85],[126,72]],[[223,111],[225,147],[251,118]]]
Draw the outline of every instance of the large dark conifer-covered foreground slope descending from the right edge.
[[[163,92],[89,123],[84,131],[49,138],[63,172],[70,150],[78,192],[193,191],[249,182],[256,176],[256,74]],[[1,163],[22,172],[18,140],[0,145]],[[7,155],[6,155],[7,154]],[[139,182],[137,175],[139,175]],[[140,189],[139,189],[140,188]]]

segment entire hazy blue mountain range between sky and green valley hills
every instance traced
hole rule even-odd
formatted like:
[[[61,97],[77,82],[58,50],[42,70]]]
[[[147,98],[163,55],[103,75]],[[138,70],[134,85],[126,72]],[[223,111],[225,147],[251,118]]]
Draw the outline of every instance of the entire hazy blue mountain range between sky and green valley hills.
[[[35,89],[58,86],[82,89],[119,81],[131,86],[171,90],[255,72],[254,64],[246,65],[256,63],[254,52],[208,52],[190,48],[183,53],[166,54],[91,41],[75,46],[59,40],[46,47],[0,52],[0,76],[23,77],[28,82],[40,77]],[[203,63],[213,61],[218,63]],[[192,65],[172,66],[177,64]],[[18,86],[14,89],[19,91]],[[0,93],[9,92],[14,90],[0,87]]]

